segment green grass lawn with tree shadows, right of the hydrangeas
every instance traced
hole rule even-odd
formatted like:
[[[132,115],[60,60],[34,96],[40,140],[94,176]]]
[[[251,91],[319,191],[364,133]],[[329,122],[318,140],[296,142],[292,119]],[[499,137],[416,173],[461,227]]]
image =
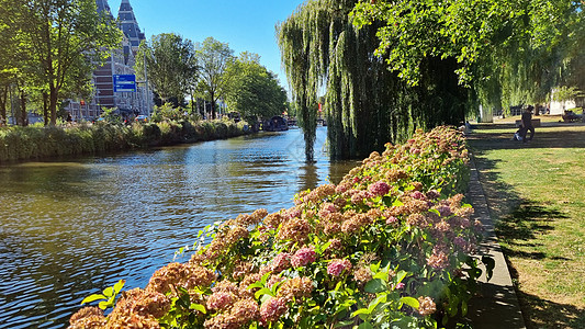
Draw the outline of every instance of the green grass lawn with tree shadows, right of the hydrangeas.
[[[585,328],[585,125],[470,136],[528,328]]]

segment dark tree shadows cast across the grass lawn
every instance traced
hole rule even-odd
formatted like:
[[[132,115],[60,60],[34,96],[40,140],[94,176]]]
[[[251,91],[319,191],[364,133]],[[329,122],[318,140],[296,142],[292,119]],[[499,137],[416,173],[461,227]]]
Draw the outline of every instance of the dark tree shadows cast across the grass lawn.
[[[519,274],[514,264],[509,262],[509,258],[569,260],[562,257],[552,258],[545,251],[538,250],[541,247],[538,237],[554,229],[550,224],[558,219],[569,218],[569,216],[545,204],[521,198],[514,192],[514,186],[505,183],[500,174],[494,170],[497,161],[490,160],[484,155],[494,149],[585,148],[585,138],[580,132],[539,132],[537,128],[535,140],[522,144],[510,140],[514,131],[510,127],[510,133],[497,131],[473,134],[469,141],[488,200],[492,218],[497,218],[496,234],[498,239],[507,245],[507,247],[502,247],[510,275],[517,282]],[[583,309],[574,305],[548,300],[545,296],[527,294],[518,286],[516,290],[527,328],[585,328]]]

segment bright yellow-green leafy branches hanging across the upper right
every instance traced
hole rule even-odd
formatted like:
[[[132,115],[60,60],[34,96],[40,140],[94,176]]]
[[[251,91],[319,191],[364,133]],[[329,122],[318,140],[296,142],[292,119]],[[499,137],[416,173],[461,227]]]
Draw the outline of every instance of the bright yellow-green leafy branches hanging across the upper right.
[[[452,58],[460,84],[496,106],[544,100],[580,16],[571,0],[368,1],[352,12],[360,27],[382,23],[376,54],[408,84],[428,58]]]

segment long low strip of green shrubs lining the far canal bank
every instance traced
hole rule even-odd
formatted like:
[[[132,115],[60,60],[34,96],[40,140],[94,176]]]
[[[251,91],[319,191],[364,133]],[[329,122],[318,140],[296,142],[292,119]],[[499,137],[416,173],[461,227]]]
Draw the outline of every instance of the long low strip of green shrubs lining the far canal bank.
[[[0,162],[222,139],[246,133],[246,123],[224,120],[130,126],[101,122],[68,127],[11,126],[0,128]]]

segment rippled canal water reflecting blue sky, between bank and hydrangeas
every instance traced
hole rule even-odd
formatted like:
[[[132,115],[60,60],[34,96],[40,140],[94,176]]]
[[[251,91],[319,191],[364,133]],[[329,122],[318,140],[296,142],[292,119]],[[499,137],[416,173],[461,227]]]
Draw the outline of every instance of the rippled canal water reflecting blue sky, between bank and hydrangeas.
[[[291,129],[0,167],[0,328],[65,328],[83,297],[144,287],[206,225],[337,183],[357,162],[330,162],[325,139],[314,164]]]

